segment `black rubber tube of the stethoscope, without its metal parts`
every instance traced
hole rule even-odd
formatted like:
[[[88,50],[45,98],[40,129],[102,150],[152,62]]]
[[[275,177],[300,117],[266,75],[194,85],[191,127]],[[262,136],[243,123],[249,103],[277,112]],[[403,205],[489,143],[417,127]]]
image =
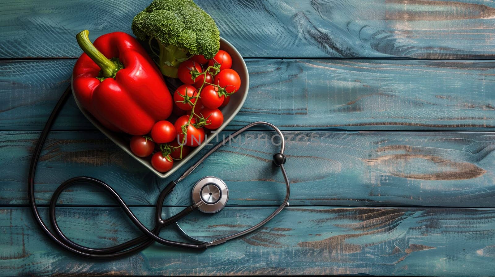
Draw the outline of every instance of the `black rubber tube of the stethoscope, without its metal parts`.
[[[158,242],[163,245],[168,245],[168,246],[175,246],[175,247],[185,247],[185,248],[192,248],[192,249],[204,249],[206,248],[206,243],[200,243],[200,244],[194,244],[194,243],[187,243],[187,242],[181,242],[181,241],[173,241],[173,240],[168,240],[162,237],[159,237],[158,234],[161,230],[161,228],[176,222],[177,220],[181,219],[182,217],[186,216],[187,214],[191,213],[192,211],[196,210],[198,207],[196,204],[193,204],[187,208],[185,208],[183,211],[179,212],[177,215],[172,216],[169,219],[161,219],[161,211],[162,211],[162,205],[163,205],[163,200],[165,197],[173,190],[175,187],[175,183],[171,182],[169,183],[160,193],[160,196],[158,197],[157,205],[156,205],[156,214],[155,214],[155,227],[153,230],[148,230],[146,226],[139,221],[139,219],[134,215],[134,213],[130,210],[129,206],[124,202],[124,200],[118,195],[116,191],[114,191],[110,186],[108,186],[105,182],[100,181],[96,178],[92,177],[75,177],[72,179],[69,179],[65,182],[63,182],[56,190],[55,193],[53,194],[51,200],[50,200],[50,207],[49,207],[49,217],[50,217],[50,222],[52,224],[52,227],[54,228],[55,232],[52,232],[48,229],[47,225],[43,221],[43,219],[40,216],[40,213],[38,211],[38,206],[36,205],[36,198],[34,194],[34,178],[35,178],[35,173],[36,173],[36,166],[38,164],[38,160],[41,155],[41,151],[43,149],[43,145],[45,144],[45,141],[47,139],[48,133],[51,129],[51,126],[53,125],[54,120],[56,119],[58,113],[60,112],[61,108],[63,107],[63,104],[67,101],[69,96],[71,95],[71,87],[67,87],[65,92],[62,94],[60,99],[58,100],[57,104],[53,108],[53,111],[51,112],[47,123],[45,124],[45,127],[43,128],[43,131],[40,134],[40,138],[38,139],[38,142],[36,144],[33,157],[31,158],[31,164],[29,166],[29,175],[28,175],[28,200],[29,200],[29,205],[31,207],[31,211],[33,213],[34,220],[38,223],[40,226],[41,230],[57,245],[60,247],[66,249],[67,251],[70,251],[74,254],[87,257],[87,258],[93,258],[93,259],[111,259],[111,258],[118,258],[122,257],[125,255],[129,255],[132,253],[135,253],[137,251],[140,251],[148,245],[150,245],[153,242]],[[92,185],[96,185],[102,189],[104,189],[118,204],[119,206],[124,210],[126,215],[129,217],[129,219],[133,222],[134,225],[144,234],[141,237],[137,237],[134,239],[131,239],[129,241],[126,241],[124,243],[121,243],[119,245],[111,246],[111,247],[106,247],[106,248],[90,248],[90,247],[85,247],[80,244],[77,244],[67,238],[63,232],[60,230],[58,227],[58,224],[56,222],[56,216],[55,216],[55,206],[58,197],[60,194],[69,186],[76,184],[78,182],[85,182],[85,183],[90,183]],[[132,248],[129,248],[132,247]]]

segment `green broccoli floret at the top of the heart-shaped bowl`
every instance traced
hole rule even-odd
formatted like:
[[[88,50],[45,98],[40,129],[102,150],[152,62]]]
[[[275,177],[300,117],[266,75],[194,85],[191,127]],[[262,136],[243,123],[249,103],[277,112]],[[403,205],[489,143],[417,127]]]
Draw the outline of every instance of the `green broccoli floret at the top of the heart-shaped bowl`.
[[[183,61],[211,59],[220,48],[215,21],[192,0],[154,0],[134,17],[132,31],[139,40],[158,41],[158,66],[172,78]]]

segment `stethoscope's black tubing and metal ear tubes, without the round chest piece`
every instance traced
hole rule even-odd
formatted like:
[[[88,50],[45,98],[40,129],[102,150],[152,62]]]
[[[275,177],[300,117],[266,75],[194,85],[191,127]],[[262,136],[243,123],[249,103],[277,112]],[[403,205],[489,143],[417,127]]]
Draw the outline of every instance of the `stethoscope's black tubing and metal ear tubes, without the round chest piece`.
[[[74,254],[77,254],[79,256],[87,257],[87,258],[92,258],[92,259],[111,259],[111,258],[117,258],[117,257],[122,257],[124,255],[129,255],[138,251],[141,251],[142,249],[148,247],[150,244],[153,242],[158,242],[163,245],[168,245],[168,246],[175,246],[175,247],[185,247],[185,248],[192,248],[192,249],[204,249],[207,246],[210,245],[218,245],[220,243],[223,243],[227,240],[230,240],[235,237],[240,237],[243,236],[249,232],[252,232],[256,230],[257,228],[261,227],[263,224],[268,222],[270,219],[272,219],[275,215],[277,215],[287,204],[288,200],[290,197],[290,182],[289,178],[287,177],[287,172],[285,171],[284,165],[283,164],[277,164],[277,166],[280,166],[282,174],[284,176],[284,180],[286,182],[286,197],[284,199],[284,202],[272,213],[270,214],[267,218],[265,218],[263,221],[259,222],[258,224],[247,228],[246,230],[243,230],[241,232],[238,232],[233,235],[229,235],[227,237],[222,237],[219,239],[215,239],[211,242],[204,242],[204,241],[199,241],[199,243],[187,243],[187,242],[181,242],[181,241],[174,241],[174,240],[168,240],[162,237],[159,237],[158,234],[160,230],[172,223],[176,223],[178,220],[181,218],[185,217],[189,213],[195,211],[198,209],[198,206],[202,204],[200,203],[194,203],[189,207],[186,207],[179,213],[167,218],[167,219],[162,219],[161,218],[161,213],[162,213],[162,208],[163,208],[163,201],[165,197],[170,194],[177,183],[182,181],[184,178],[186,178],[193,170],[201,164],[208,156],[210,156],[213,152],[215,152],[219,147],[230,141],[233,137],[239,135],[240,133],[244,132],[248,128],[254,126],[254,125],[267,125],[273,128],[280,136],[281,140],[281,151],[280,154],[283,155],[285,151],[285,141],[284,141],[284,135],[282,132],[273,124],[268,123],[268,122],[263,122],[263,121],[258,121],[258,122],[253,122],[245,127],[239,129],[238,131],[234,132],[231,134],[229,137],[223,139],[220,143],[215,145],[213,148],[211,148],[202,158],[200,158],[193,166],[191,166],[188,170],[184,172],[183,175],[181,175],[177,180],[170,182],[160,193],[158,197],[158,201],[156,204],[156,210],[155,210],[155,227],[152,230],[149,230],[137,217],[136,215],[130,210],[130,208],[127,206],[125,201],[123,200],[122,197],[114,190],[112,189],[108,184],[105,182],[93,178],[93,177],[87,177],[87,176],[80,176],[80,177],[74,177],[71,178],[65,182],[63,182],[54,192],[51,200],[50,200],[50,205],[49,205],[49,218],[50,218],[50,223],[54,229],[54,232],[50,231],[41,218],[40,212],[38,210],[38,207],[36,205],[36,200],[35,200],[35,194],[34,194],[34,178],[36,174],[36,165],[38,163],[38,160],[41,155],[41,151],[43,149],[43,145],[45,144],[45,141],[48,137],[49,131],[51,129],[51,126],[53,125],[53,122],[55,118],[57,117],[58,113],[60,112],[63,104],[67,101],[69,95],[71,94],[71,87],[69,86],[65,92],[62,94],[60,99],[58,100],[57,104],[53,108],[53,111],[51,112],[49,119],[47,120],[45,127],[43,131],[40,134],[40,138],[36,144],[33,157],[31,158],[31,163],[29,167],[29,174],[28,174],[28,200],[29,204],[31,207],[31,211],[33,213],[35,221],[38,223],[42,231],[47,235],[51,240],[55,242],[55,244],[59,245],[60,247],[66,249],[67,251],[70,251]],[[284,158],[285,162],[285,158]],[[63,232],[60,230],[58,223],[56,221],[56,213],[55,213],[55,207],[56,203],[58,200],[58,197],[60,194],[67,189],[69,186],[80,183],[80,182],[85,182],[85,183],[91,183],[93,185],[96,185],[100,188],[102,188],[106,193],[108,193],[117,203],[118,205],[124,210],[125,214],[129,219],[133,222],[134,225],[144,234],[143,236],[136,237],[134,239],[128,240],[126,242],[123,242],[119,245],[111,246],[111,247],[106,247],[106,248],[91,248],[91,247],[86,247],[83,245],[80,245],[68,237],[66,237]],[[182,229],[181,229],[182,230]],[[187,234],[186,234],[187,235]],[[189,237],[189,236],[188,236]]]

